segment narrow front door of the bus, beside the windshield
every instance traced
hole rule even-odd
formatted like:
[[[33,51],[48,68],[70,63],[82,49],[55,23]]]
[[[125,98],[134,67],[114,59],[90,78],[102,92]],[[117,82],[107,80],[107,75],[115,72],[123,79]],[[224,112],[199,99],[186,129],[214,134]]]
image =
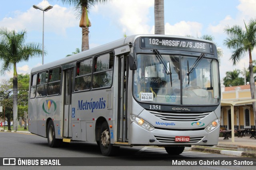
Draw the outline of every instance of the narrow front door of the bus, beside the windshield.
[[[118,58],[118,142],[128,142],[126,108],[127,63],[126,55],[122,55]]]

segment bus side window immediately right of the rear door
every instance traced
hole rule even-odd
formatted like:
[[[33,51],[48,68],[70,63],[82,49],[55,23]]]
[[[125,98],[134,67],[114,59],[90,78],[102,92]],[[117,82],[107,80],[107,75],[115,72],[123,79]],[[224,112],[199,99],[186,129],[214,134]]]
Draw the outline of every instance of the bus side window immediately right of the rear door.
[[[92,80],[92,59],[87,59],[76,64],[75,91],[89,90]]]

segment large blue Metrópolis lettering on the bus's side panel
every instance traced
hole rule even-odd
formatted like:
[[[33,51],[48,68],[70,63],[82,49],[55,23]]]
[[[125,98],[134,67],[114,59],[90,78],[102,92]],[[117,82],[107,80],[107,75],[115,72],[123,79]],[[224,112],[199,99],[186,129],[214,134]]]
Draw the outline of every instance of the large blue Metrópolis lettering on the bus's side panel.
[[[91,110],[92,112],[94,109],[105,109],[106,107],[106,100],[100,98],[98,101],[94,101],[91,99],[90,102],[87,100],[84,102],[83,100],[78,100],[78,110]]]

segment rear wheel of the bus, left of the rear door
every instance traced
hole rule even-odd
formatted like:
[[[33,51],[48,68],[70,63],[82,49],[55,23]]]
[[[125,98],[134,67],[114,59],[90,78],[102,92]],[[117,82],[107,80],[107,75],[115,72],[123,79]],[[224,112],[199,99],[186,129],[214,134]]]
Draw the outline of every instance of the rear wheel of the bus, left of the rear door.
[[[54,123],[52,120],[49,121],[48,127],[47,127],[47,141],[48,145],[51,148],[60,147],[62,140],[55,138],[55,129],[54,129]]]

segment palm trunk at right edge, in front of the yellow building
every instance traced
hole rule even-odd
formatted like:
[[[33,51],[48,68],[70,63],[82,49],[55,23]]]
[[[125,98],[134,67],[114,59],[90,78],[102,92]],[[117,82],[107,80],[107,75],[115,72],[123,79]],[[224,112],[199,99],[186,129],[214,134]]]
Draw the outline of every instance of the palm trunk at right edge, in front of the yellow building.
[[[252,65],[252,53],[249,50],[249,70],[250,70],[250,89],[251,89],[251,96],[252,99],[256,97],[256,89],[255,89],[255,82],[254,82],[254,75],[253,75],[253,65]],[[254,115],[254,125],[256,125],[256,102],[252,103],[253,108],[253,115]]]

